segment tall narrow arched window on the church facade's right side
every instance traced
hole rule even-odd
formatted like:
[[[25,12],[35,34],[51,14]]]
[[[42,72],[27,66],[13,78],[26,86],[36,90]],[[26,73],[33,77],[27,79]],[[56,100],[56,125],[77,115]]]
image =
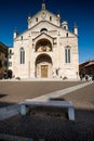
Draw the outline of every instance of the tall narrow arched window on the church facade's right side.
[[[67,46],[65,48],[65,63],[70,63],[71,62],[71,48],[69,46]]]

